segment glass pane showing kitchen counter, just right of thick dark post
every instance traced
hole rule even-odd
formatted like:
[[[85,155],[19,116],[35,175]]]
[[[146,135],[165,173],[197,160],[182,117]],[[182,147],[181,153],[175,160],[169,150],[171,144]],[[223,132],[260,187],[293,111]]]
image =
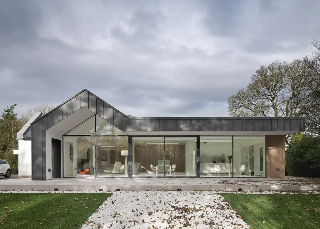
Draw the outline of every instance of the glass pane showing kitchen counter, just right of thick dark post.
[[[200,137],[200,176],[232,176],[232,136]]]

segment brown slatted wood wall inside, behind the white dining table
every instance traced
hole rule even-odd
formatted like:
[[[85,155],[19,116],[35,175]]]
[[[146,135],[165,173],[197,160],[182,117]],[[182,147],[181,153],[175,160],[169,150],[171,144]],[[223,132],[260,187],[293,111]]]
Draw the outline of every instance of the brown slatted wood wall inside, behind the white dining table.
[[[140,163],[140,172],[151,171],[150,164],[158,165],[158,160],[163,160],[162,147],[156,145],[134,145],[134,163]],[[177,165],[175,172],[186,171],[186,145],[167,145],[166,151],[170,152],[170,165]]]

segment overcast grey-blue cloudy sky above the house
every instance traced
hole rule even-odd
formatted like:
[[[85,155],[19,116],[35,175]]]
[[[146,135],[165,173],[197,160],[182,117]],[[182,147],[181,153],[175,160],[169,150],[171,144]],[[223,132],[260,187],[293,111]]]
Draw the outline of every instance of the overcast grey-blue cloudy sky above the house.
[[[320,39],[320,1],[1,1],[0,110],[88,89],[139,117],[228,116],[262,64]]]

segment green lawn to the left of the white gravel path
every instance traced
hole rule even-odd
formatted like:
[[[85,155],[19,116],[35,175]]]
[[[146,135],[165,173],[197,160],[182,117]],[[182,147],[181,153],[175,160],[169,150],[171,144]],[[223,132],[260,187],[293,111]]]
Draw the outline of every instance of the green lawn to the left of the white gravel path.
[[[110,195],[3,193],[0,194],[0,219],[3,220],[0,228],[79,228]]]

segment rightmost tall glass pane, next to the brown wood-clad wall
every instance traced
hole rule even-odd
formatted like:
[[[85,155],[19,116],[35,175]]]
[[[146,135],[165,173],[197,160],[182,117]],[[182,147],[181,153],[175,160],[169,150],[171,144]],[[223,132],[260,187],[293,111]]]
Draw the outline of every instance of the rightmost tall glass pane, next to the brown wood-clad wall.
[[[233,141],[233,176],[266,176],[265,136],[234,136]]]

